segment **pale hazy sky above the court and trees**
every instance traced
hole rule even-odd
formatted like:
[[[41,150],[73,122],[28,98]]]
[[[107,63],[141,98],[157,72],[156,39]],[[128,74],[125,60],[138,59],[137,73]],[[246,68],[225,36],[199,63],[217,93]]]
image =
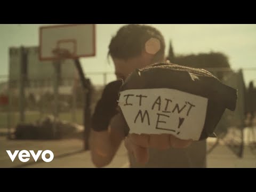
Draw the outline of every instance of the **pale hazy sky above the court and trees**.
[[[152,24],[162,31],[166,42],[172,40],[175,54],[189,54],[218,51],[226,54],[231,68],[256,68],[256,25],[171,25]],[[38,45],[38,28],[42,24],[0,25],[0,75],[8,74],[10,46],[19,47]],[[113,63],[107,61],[108,44],[121,24],[96,26],[96,57],[81,59],[85,73],[95,71],[114,72]],[[111,61],[111,60],[110,60]],[[246,84],[256,81],[256,70],[244,71]],[[90,76],[92,82],[101,83],[102,77]],[[112,80],[114,76],[108,78]]]

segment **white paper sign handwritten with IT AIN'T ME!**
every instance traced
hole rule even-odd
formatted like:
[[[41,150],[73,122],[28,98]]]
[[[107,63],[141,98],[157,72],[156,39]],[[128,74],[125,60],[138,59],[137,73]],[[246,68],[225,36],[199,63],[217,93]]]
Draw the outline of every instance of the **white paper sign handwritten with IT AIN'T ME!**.
[[[199,140],[207,102],[207,98],[173,89],[125,90],[119,97],[129,133],[167,133],[183,140]]]

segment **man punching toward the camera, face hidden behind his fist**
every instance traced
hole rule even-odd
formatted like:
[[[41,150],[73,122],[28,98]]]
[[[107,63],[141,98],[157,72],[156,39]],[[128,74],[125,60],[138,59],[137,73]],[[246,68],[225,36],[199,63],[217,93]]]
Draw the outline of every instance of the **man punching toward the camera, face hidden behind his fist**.
[[[137,68],[163,62],[164,52],[162,34],[146,25],[123,26],[109,44],[115,74],[117,79],[123,80]],[[200,167],[202,161],[199,161],[200,165],[192,165],[189,151],[180,149],[187,148],[191,141],[180,140],[171,134],[129,134],[125,137],[122,125],[118,126],[117,122],[117,126],[112,126],[111,123],[116,123],[115,119],[120,115],[117,100],[122,83],[122,80],[109,83],[95,107],[89,141],[95,166],[108,165],[125,139],[131,167]],[[172,153],[168,155],[170,151]]]

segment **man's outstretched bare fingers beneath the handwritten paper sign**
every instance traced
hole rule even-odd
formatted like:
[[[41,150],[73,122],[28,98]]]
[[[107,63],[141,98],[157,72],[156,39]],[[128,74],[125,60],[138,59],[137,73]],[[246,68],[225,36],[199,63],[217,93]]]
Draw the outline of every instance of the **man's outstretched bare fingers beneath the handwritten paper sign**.
[[[132,153],[137,162],[146,164],[149,159],[148,148],[159,150],[186,148],[192,140],[181,140],[171,134],[129,134],[125,138],[125,147]]]

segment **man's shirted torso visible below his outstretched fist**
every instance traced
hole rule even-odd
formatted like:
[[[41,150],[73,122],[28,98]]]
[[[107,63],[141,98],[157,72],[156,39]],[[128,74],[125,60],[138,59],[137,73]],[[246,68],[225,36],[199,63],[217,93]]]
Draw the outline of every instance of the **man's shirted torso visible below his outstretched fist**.
[[[129,159],[132,168],[204,168],[206,167],[206,141],[195,141],[185,149],[149,149],[149,161],[146,165],[138,164],[131,154]]]

